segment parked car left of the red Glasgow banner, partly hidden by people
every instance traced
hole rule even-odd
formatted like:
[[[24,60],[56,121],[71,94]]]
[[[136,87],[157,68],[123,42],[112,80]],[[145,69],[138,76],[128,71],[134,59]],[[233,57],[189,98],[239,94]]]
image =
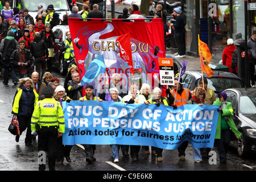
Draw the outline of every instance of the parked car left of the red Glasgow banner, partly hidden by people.
[[[64,70],[64,53],[60,51],[61,43],[67,38],[66,32],[69,31],[68,25],[57,25],[52,28],[52,32],[55,36],[55,48],[54,48],[54,57],[55,57],[55,63],[53,63],[53,66],[58,68],[61,75],[65,75],[67,73],[66,70]]]

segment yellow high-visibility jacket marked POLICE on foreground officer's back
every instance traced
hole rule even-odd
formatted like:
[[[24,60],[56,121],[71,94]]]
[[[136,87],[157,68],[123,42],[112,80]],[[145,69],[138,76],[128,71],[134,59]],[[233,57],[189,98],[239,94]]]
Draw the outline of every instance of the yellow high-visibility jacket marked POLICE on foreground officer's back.
[[[64,113],[60,102],[45,98],[36,104],[31,118],[31,131],[36,131],[35,125],[39,126],[57,126],[59,125],[59,133],[65,132]]]

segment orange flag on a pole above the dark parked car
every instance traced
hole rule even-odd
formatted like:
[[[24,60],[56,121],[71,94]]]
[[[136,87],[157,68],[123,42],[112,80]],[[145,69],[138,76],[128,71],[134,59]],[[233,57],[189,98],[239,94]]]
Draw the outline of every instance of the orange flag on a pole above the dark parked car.
[[[205,44],[203,41],[200,40],[199,35],[198,35],[198,52],[200,56],[202,71],[208,75],[208,78],[213,76],[214,73],[208,65],[210,63],[210,60],[212,60],[212,54],[210,53],[210,50],[207,44]]]

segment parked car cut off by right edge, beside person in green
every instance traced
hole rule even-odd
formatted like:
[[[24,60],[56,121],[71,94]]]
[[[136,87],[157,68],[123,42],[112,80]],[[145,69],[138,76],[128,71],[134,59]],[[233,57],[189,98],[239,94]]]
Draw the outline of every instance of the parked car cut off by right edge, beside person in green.
[[[239,156],[256,151],[256,88],[226,89],[227,101],[232,103],[232,118],[242,133],[240,139],[230,142]]]

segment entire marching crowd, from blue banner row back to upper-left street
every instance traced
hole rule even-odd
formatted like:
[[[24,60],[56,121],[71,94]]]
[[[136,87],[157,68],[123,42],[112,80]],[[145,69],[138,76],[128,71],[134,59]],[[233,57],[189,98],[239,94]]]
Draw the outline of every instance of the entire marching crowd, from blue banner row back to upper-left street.
[[[75,7],[75,6],[74,6]],[[42,6],[38,6],[42,9]],[[73,9],[77,14],[77,9]],[[137,9],[135,9],[137,10]],[[132,84],[129,89],[121,85],[121,76],[118,73],[112,75],[112,82],[105,86],[103,92],[98,96],[94,94],[92,85],[85,86],[85,95],[82,94],[82,85],[77,66],[71,65],[68,68],[64,85],[60,85],[60,79],[53,77],[52,57],[49,57],[48,49],[55,46],[54,35],[51,28],[61,23],[52,5],[47,7],[47,15],[43,13],[36,17],[36,23],[28,14],[28,10],[13,9],[10,15],[9,3],[0,15],[1,35],[1,60],[4,69],[3,84],[8,86],[9,74],[14,85],[18,85],[13,101],[12,113],[17,115],[20,135],[27,130],[25,144],[30,146],[32,139],[38,135],[38,151],[48,152],[49,170],[55,169],[55,162],[63,164],[64,158],[72,162],[70,153],[72,146],[63,145],[62,134],[65,130],[65,119],[62,109],[63,101],[72,100],[94,100],[113,101],[127,104],[144,103],[172,106],[174,109],[185,104],[220,105],[220,117],[216,130],[216,145],[220,154],[220,162],[226,162],[226,151],[231,139],[231,132],[239,138],[241,133],[236,129],[231,118],[233,113],[232,105],[226,102],[226,94],[219,93],[216,98],[212,89],[207,87],[207,78],[201,78],[200,87],[189,92],[183,88],[181,80],[175,77],[173,88],[154,88],[143,84],[141,88]],[[6,13],[7,12],[7,13]],[[43,12],[43,11],[42,11]],[[86,9],[84,9],[86,12]],[[67,18],[67,17],[65,17]],[[65,23],[65,20],[63,20]],[[65,51],[65,60],[73,58],[73,46],[71,34],[67,32],[67,40],[62,43],[61,49]],[[1,68],[2,69],[2,68]],[[162,91],[164,90],[164,91]],[[231,129],[231,130],[230,130]],[[20,135],[15,140],[19,142]],[[86,154],[86,162],[92,163],[96,145],[83,144]],[[178,148],[180,160],[185,160],[185,150],[188,142],[183,142]],[[125,158],[130,156],[134,162],[138,161],[138,153],[141,146],[111,145],[114,162],[118,163],[118,151],[121,148]],[[145,155],[150,154],[149,146],[143,146]],[[193,147],[193,156],[196,163],[202,161],[202,156],[208,156],[210,148]],[[151,147],[152,155],[157,156],[158,162],[162,161],[163,149]],[[39,170],[45,170],[45,164],[39,164]]]

